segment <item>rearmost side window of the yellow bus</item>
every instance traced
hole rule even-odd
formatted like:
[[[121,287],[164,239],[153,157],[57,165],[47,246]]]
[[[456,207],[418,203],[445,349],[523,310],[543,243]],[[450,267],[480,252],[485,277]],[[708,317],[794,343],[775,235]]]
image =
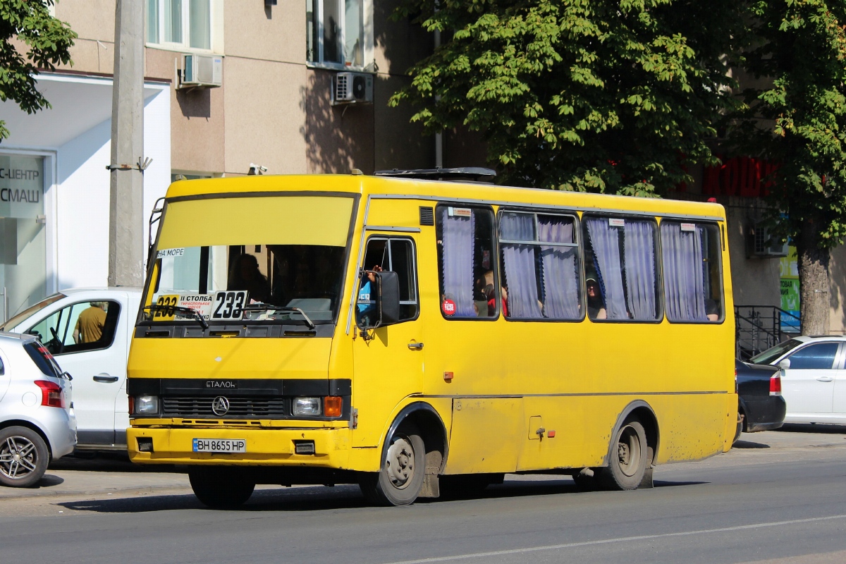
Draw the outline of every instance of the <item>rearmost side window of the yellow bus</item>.
[[[661,222],[667,320],[723,318],[720,234],[708,223]]]

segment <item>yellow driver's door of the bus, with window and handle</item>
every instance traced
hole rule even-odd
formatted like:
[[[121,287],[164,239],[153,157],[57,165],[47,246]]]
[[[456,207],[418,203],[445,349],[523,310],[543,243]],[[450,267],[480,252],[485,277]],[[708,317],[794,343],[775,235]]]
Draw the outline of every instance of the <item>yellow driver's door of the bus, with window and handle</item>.
[[[353,446],[376,446],[397,403],[422,392],[423,322],[417,287],[415,239],[372,235],[365,244],[364,276],[356,287],[356,337],[353,345],[353,405],[358,427]],[[399,279],[400,320],[397,324],[362,331],[375,313],[369,271],[393,271]]]

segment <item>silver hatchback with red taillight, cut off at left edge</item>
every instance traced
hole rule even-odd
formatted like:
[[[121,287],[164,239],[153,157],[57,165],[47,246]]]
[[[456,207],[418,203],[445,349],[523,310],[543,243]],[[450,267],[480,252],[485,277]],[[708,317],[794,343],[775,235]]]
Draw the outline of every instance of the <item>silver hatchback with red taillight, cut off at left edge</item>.
[[[0,332],[0,485],[36,484],[74,451],[70,376],[36,337]]]

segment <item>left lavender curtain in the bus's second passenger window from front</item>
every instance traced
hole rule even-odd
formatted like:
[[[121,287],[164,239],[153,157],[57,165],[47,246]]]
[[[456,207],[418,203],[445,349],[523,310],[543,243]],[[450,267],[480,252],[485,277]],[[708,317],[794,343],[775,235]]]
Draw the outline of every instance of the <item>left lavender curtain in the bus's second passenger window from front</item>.
[[[535,216],[503,213],[499,237],[516,241],[535,240]],[[535,319],[543,317],[537,303],[535,246],[503,244],[505,282],[508,283],[508,316]]]

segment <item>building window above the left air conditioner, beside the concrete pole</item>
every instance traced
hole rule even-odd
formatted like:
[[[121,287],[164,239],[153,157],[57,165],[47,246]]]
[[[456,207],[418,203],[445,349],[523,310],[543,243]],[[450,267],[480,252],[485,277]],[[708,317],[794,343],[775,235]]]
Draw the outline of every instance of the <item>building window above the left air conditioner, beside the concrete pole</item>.
[[[147,43],[211,50],[211,0],[147,0]]]

